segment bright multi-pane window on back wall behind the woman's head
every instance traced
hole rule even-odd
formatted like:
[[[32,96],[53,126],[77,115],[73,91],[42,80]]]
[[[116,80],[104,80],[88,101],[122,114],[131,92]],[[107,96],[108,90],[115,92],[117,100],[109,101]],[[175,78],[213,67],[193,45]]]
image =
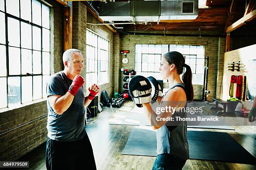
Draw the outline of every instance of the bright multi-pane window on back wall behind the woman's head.
[[[202,85],[204,74],[204,46],[198,45],[148,45],[135,46],[135,70],[144,77],[153,76],[161,80],[159,71],[161,56],[168,51],[178,51],[185,57],[185,63],[191,67],[192,83]]]

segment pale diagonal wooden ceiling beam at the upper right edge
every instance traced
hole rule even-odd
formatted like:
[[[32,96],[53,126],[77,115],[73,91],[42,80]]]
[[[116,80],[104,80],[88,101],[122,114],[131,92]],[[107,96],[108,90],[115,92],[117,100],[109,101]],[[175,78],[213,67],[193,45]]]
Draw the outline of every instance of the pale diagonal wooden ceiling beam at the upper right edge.
[[[241,18],[240,20],[236,21],[235,23],[233,23],[232,25],[230,25],[225,32],[231,32],[236,30],[237,28],[241,27],[242,25],[245,25],[246,22],[249,22],[251,20],[253,20],[254,18],[256,18],[256,10],[251,11],[251,13],[248,13],[246,16],[244,16],[243,18]]]

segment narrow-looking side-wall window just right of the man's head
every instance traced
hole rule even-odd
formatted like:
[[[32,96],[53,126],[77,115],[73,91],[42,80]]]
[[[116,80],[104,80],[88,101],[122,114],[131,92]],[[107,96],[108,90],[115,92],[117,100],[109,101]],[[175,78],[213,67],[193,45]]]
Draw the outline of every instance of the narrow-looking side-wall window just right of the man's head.
[[[86,31],[86,87],[109,81],[109,41],[91,30]]]

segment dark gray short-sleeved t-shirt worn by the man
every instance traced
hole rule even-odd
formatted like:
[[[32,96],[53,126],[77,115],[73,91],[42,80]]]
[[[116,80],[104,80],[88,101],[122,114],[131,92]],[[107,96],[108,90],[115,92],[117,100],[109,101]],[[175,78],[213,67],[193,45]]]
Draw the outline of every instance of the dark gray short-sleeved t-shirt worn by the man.
[[[51,75],[46,83],[47,97],[50,95],[64,95],[72,84],[63,71]],[[56,114],[47,99],[48,118],[47,136],[52,140],[72,141],[80,140],[86,134],[85,131],[85,109],[84,92],[80,87],[72,104],[61,115]]]

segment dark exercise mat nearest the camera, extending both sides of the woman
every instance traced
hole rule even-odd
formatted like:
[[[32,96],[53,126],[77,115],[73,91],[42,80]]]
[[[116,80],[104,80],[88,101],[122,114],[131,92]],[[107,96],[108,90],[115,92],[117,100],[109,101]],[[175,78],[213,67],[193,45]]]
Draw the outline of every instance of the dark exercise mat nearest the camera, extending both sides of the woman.
[[[189,159],[256,164],[256,158],[228,133],[188,131]],[[123,149],[123,155],[156,156],[156,132],[135,128]]]

